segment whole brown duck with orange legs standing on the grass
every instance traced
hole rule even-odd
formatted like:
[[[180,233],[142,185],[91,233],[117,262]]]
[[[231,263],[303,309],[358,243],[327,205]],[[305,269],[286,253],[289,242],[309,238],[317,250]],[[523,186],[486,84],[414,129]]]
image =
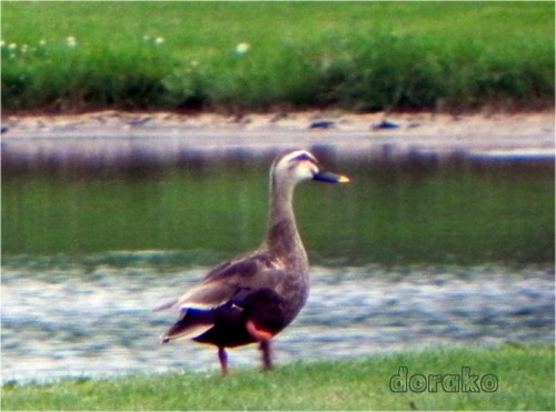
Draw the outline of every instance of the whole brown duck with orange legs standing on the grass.
[[[278,157],[270,168],[268,233],[254,252],[226,261],[179,299],[155,311],[177,310],[162,343],[190,339],[218,349],[224,375],[227,349],[258,343],[262,369],[272,368],[271,340],[300,312],[309,294],[309,262],[292,208],[294,189],[304,181],[346,183],[325,170],[307,150]]]

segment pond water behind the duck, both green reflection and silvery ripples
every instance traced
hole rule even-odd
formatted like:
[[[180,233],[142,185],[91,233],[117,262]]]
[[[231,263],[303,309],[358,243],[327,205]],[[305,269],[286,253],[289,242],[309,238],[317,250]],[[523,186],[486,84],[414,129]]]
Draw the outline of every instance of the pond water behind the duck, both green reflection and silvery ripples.
[[[319,157],[353,183],[296,192],[312,289],[278,363],[554,342],[553,159]],[[257,247],[268,161],[2,164],[2,380],[217,369],[211,348],[160,345],[176,313],[151,309]]]

